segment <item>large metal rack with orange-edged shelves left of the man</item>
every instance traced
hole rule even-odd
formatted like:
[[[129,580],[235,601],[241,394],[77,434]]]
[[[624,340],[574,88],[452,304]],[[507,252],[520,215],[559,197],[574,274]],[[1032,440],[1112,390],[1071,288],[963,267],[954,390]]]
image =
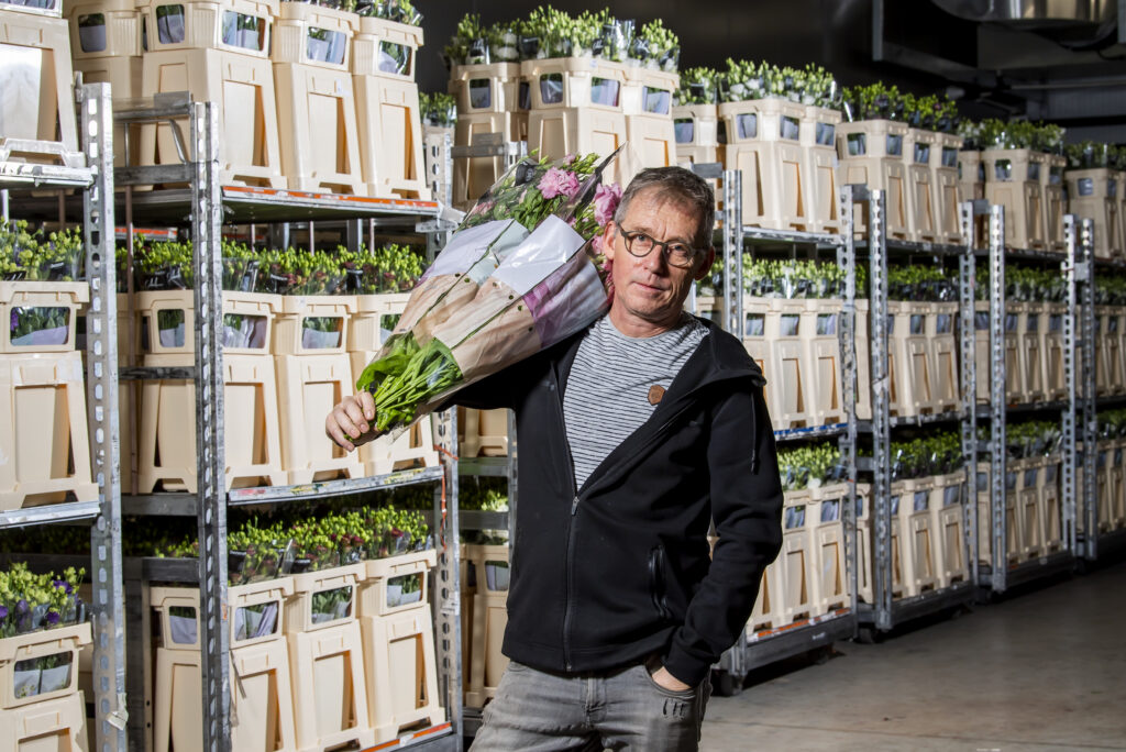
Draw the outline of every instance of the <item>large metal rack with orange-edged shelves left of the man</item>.
[[[447,215],[438,202],[409,199],[375,199],[330,196],[302,191],[262,188],[224,187],[218,183],[218,118],[212,102],[162,100],[143,104],[118,113],[118,123],[153,123],[187,117],[189,122],[187,152],[195,161],[184,164],[135,167],[117,170],[117,182],[125,186],[188,182],[189,189],[160,190],[125,196],[129,233],[135,218],[144,222],[185,224],[190,222],[195,254],[194,303],[196,316],[195,368],[179,369],[171,377],[196,381],[196,451],[199,465],[196,494],[148,494],[128,496],[124,508],[134,514],[195,516],[198,520],[198,562],[191,559],[142,559],[131,562],[127,580],[134,588],[152,580],[198,583],[200,587],[200,644],[204,749],[207,752],[231,750],[230,738],[230,645],[226,619],[226,510],[243,504],[284,503],[316,500],[330,495],[363,493],[408,484],[439,484],[435,492],[434,520],[437,522],[438,566],[435,572],[435,635],[440,691],[450,720],[403,740],[412,747],[427,750],[461,749],[461,605],[457,561],[457,424],[456,412],[436,415],[435,435],[440,446],[439,468],[391,473],[376,477],[331,481],[297,486],[241,489],[226,492],[223,484],[223,350],[222,316],[208,312],[222,310],[222,226],[232,223],[286,222],[304,220],[366,220],[376,227],[428,234],[428,248],[437,250],[435,240],[450,230]],[[108,129],[108,128],[107,128]],[[111,159],[111,151],[110,158]],[[107,194],[108,195],[108,194]],[[113,259],[114,225],[104,236]],[[358,229],[358,227],[357,227]],[[310,233],[312,234],[312,233]],[[111,268],[111,265],[109,265]],[[114,360],[116,365],[116,359]],[[129,378],[167,378],[169,369],[131,368]],[[113,415],[116,417],[116,409]],[[114,517],[119,530],[120,511]],[[118,548],[119,550],[119,548]],[[138,594],[138,593],[133,593]],[[118,608],[124,599],[118,598]],[[129,601],[131,627],[140,634],[143,615],[141,598]],[[140,641],[137,642],[140,647]],[[120,654],[120,653],[119,653]],[[142,749],[144,737],[143,661],[140,650],[129,656],[131,749]],[[124,750],[124,741],[123,746]],[[384,747],[381,747],[384,749]],[[390,749],[390,747],[388,747]]]

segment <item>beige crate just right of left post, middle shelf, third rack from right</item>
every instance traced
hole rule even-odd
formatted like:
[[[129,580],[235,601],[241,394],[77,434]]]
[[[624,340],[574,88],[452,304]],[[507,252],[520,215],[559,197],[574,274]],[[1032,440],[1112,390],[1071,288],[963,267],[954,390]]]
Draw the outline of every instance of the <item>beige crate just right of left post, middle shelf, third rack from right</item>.
[[[887,370],[893,415],[920,415],[936,412],[933,356],[927,337],[927,320],[936,315],[935,304],[890,301]]]

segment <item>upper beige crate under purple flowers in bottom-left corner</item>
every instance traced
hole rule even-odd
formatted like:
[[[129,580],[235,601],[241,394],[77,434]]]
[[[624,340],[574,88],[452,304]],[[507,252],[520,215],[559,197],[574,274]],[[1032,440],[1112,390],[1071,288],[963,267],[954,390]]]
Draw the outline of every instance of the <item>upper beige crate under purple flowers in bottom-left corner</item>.
[[[57,629],[43,629],[14,637],[0,638],[0,717],[17,708],[42,707],[44,702],[73,696],[78,692],[79,651],[93,642],[89,623],[75,624]],[[66,654],[68,664],[54,669],[57,675],[47,678],[51,687],[45,688],[42,677],[32,672],[17,671],[20,661],[32,661],[50,655]],[[36,672],[37,673],[37,672]],[[34,684],[34,690],[21,691]],[[47,691],[43,691],[46,689]],[[82,714],[83,718],[86,714]],[[2,728],[2,723],[0,723]],[[0,738],[3,734],[0,733]]]

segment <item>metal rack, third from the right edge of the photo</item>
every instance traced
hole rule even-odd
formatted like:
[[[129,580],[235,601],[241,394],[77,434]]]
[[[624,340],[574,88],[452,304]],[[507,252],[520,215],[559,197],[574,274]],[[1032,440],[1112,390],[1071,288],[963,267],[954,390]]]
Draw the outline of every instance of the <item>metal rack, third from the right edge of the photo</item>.
[[[965,549],[975,550],[971,540],[976,540],[976,496],[971,492],[973,468],[976,466],[976,419],[975,419],[975,360],[974,360],[974,297],[973,284],[975,259],[969,245],[941,243],[913,243],[890,241],[885,234],[886,194],[869,190],[868,239],[863,248],[868,252],[870,287],[870,339],[872,358],[872,421],[864,421],[860,429],[872,436],[872,458],[861,464],[861,469],[872,473],[872,522],[873,522],[873,597],[874,603],[864,603],[858,609],[863,626],[861,636],[870,638],[873,629],[887,632],[897,624],[921,616],[954,608],[973,600],[974,581],[954,583],[947,588],[918,596],[893,599],[892,557],[892,508],[891,508],[891,430],[906,426],[923,426],[937,422],[959,422],[963,455],[967,467],[966,489],[963,493],[963,530]],[[963,238],[973,236],[973,221],[976,214],[986,209],[981,203],[963,203],[958,207],[959,227]],[[959,394],[962,406],[932,415],[893,418],[890,414],[888,330],[887,330],[887,262],[892,253],[897,256],[929,256],[958,259],[958,313],[959,328]],[[1003,386],[1003,375],[1002,375]],[[967,561],[971,561],[967,557]]]

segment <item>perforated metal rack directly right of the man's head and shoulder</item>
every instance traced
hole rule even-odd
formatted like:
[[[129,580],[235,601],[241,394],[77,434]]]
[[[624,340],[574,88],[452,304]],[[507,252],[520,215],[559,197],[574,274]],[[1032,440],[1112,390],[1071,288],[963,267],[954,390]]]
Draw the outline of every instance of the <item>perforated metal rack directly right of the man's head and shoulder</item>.
[[[842,512],[844,529],[846,576],[850,582],[851,603],[823,616],[802,619],[777,629],[768,629],[740,637],[720,663],[717,691],[738,692],[742,679],[749,671],[793,655],[826,648],[838,639],[850,638],[857,629],[857,543],[856,543],[856,249],[852,233],[854,204],[864,199],[864,190],[844,186],[838,195],[840,233],[789,232],[743,225],[742,223],[742,172],[723,170],[718,164],[696,164],[694,171],[704,178],[717,178],[723,190],[723,209],[717,220],[722,226],[718,234],[723,249],[723,299],[722,325],[739,337],[745,338],[747,320],[743,315],[743,249],[751,247],[804,247],[816,251],[833,251],[835,261],[844,270],[846,298],[842,305],[841,324],[838,335],[841,343],[842,393],[844,395],[846,422],[832,426],[796,428],[775,431],[778,442],[807,440],[820,437],[838,439],[846,465],[848,492]],[[732,280],[736,280],[732,284]]]

